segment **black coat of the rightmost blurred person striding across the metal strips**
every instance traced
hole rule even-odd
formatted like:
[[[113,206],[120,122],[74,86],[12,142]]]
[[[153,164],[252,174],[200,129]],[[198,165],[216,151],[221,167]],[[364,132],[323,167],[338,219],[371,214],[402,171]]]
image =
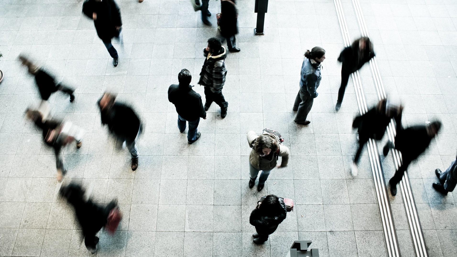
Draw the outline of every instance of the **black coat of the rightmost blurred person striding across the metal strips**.
[[[399,150],[402,157],[414,160],[429,147],[432,137],[427,133],[425,126],[412,126],[397,131],[395,136],[395,149]]]

